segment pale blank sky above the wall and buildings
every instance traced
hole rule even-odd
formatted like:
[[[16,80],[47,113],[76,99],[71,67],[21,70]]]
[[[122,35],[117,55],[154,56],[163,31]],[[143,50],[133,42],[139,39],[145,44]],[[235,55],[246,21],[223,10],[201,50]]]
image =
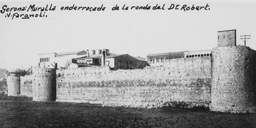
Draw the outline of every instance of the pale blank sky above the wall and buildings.
[[[146,58],[150,53],[210,50],[217,46],[217,31],[237,30],[251,35],[247,46],[256,50],[256,3],[252,1],[89,1],[29,2],[0,1],[3,6],[35,4],[56,6],[43,18],[6,18],[0,13],[0,68],[36,66],[38,53],[109,49],[110,53]],[[61,6],[106,6],[105,11],[61,11]],[[165,10],[118,10],[112,7],[165,4]],[[209,4],[210,10],[167,10],[171,4]],[[121,9],[120,8],[120,9]],[[11,12],[15,13],[15,12]],[[21,12],[18,12],[21,13]],[[23,13],[23,12],[22,12]],[[24,12],[26,13],[26,12]],[[27,12],[38,13],[38,12]]]

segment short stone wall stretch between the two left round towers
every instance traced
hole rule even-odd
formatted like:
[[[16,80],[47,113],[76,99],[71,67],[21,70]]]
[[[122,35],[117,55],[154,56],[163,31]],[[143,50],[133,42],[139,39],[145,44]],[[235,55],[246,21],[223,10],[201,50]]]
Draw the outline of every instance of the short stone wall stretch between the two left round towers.
[[[33,81],[32,75],[20,77],[20,95],[26,97],[33,97]]]

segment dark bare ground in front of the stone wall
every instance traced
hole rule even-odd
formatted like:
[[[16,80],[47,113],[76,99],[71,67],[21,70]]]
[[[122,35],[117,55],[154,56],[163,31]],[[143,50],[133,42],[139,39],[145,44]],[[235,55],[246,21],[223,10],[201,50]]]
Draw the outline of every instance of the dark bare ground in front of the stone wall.
[[[34,102],[32,98],[1,95],[0,127],[256,127],[256,114]]]

